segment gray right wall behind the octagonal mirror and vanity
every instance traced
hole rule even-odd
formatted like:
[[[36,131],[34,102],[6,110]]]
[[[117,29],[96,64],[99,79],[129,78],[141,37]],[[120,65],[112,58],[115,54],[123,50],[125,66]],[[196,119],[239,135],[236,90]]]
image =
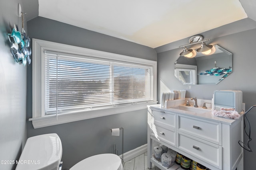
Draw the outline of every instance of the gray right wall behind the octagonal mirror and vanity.
[[[223,30],[225,32],[227,30]],[[205,36],[205,38],[208,38]],[[197,97],[199,99],[211,100],[214,90],[242,90],[243,102],[246,110],[256,104],[256,79],[255,79],[255,41],[256,29],[234,33],[216,39],[211,39],[210,44],[220,45],[230,53],[233,53],[233,72],[217,85],[183,85],[174,76],[174,62],[178,59],[182,49],[172,49],[158,53],[158,101],[160,98],[161,86],[170,90],[187,90],[186,97]],[[180,44],[182,45],[182,44]],[[252,141],[250,146],[253,152],[245,152],[244,169],[255,169],[254,158],[256,157],[256,108],[248,114],[252,128]],[[244,136],[247,142],[248,138]],[[240,147],[237,145],[237,147]]]

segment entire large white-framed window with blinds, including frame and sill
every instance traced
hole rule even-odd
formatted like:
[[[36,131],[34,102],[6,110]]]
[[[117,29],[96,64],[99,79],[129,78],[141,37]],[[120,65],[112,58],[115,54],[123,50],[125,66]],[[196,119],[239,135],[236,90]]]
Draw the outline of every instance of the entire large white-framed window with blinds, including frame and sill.
[[[34,128],[156,104],[156,61],[33,39]]]

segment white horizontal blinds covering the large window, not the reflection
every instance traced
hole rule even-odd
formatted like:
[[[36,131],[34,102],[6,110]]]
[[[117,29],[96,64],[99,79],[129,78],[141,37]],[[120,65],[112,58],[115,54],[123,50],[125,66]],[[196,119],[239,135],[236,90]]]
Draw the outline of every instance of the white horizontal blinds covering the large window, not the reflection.
[[[45,114],[153,101],[153,67],[45,51]]]

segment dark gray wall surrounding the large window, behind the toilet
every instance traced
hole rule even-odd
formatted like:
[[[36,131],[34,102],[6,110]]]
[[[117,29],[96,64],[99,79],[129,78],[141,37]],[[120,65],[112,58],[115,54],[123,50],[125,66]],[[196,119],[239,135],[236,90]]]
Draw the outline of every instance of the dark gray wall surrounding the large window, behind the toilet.
[[[156,61],[150,47],[124,41],[42,17],[28,21],[30,38]],[[33,60],[33,59],[32,59]],[[32,117],[32,65],[28,67],[27,119]],[[113,143],[122,152],[122,137],[111,136],[110,128],[124,127],[124,152],[147,143],[147,109],[34,129],[27,121],[27,136],[57,133],[62,140],[63,168],[89,156],[112,153]],[[122,134],[122,133],[121,133]]]

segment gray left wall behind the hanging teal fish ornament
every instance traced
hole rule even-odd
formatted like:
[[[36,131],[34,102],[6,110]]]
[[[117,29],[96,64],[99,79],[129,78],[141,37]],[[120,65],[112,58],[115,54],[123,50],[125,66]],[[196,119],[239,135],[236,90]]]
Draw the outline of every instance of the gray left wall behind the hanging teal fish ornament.
[[[0,1],[0,160],[16,160],[26,141],[26,70],[10,53],[6,33],[14,24],[22,27],[18,3]],[[24,23],[26,30],[26,20]],[[1,170],[15,169],[15,164],[0,164]]]

